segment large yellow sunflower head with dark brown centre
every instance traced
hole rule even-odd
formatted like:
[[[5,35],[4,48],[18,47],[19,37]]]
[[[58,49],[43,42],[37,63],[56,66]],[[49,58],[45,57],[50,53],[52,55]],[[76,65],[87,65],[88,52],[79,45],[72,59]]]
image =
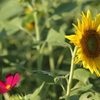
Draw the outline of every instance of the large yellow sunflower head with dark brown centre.
[[[82,22],[77,19],[78,26],[75,35],[65,36],[78,47],[75,63],[82,61],[83,67],[89,69],[91,73],[100,76],[100,14],[95,20],[92,20],[90,10],[85,15],[81,14]]]

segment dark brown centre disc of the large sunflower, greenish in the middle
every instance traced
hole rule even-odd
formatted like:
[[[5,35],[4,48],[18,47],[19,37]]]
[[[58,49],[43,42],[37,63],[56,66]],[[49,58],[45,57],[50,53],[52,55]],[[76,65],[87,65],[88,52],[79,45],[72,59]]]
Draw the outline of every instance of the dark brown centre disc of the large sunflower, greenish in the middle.
[[[100,53],[100,36],[95,30],[85,31],[81,44],[87,57],[96,58]]]

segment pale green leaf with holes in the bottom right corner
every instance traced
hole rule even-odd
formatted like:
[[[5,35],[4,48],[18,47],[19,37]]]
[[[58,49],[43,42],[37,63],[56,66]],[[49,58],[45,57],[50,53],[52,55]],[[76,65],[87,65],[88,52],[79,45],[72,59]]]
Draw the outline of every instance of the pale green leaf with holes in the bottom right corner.
[[[79,100],[100,100],[100,94],[87,92],[80,96]]]

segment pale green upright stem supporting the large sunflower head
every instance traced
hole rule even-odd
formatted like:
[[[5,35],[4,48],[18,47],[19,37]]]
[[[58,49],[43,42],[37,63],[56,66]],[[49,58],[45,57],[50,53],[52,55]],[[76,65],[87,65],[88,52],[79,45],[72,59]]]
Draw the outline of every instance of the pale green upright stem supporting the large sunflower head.
[[[75,60],[76,51],[77,51],[77,47],[74,48],[74,52],[72,54],[70,76],[69,76],[69,81],[67,85],[67,93],[66,93],[65,100],[70,100],[70,91],[71,91],[72,79],[73,79],[73,74],[74,74],[74,67],[75,67],[74,60]]]

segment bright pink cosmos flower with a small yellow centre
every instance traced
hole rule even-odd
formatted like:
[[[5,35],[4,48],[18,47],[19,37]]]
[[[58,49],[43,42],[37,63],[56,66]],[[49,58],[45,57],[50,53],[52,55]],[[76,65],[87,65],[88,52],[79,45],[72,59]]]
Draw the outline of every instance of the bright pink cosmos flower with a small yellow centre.
[[[0,93],[6,93],[7,91],[11,90],[19,82],[19,74],[16,73],[14,76],[10,73],[6,75],[6,82],[4,83],[0,80]]]

